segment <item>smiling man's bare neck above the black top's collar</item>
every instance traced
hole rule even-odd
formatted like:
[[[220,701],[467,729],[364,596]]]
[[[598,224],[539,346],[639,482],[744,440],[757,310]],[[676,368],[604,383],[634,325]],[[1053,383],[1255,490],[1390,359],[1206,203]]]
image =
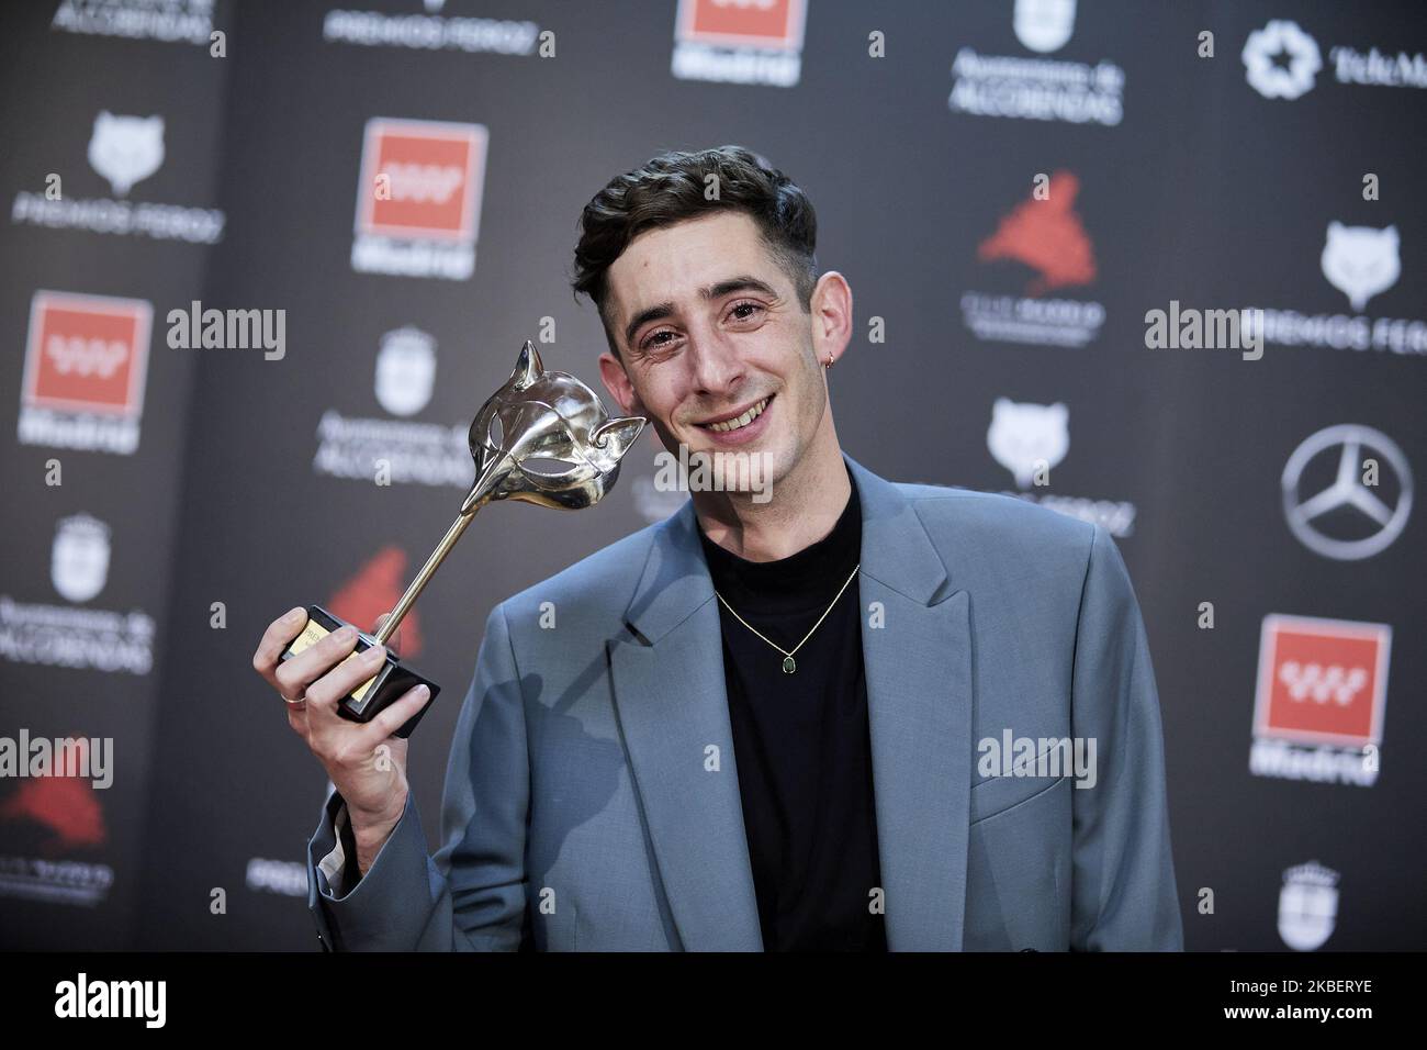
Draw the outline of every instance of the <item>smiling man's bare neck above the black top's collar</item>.
[[[692,493],[704,534],[748,561],[778,561],[818,543],[832,531],[850,496],[835,436],[809,447],[763,503],[755,503],[753,493]]]

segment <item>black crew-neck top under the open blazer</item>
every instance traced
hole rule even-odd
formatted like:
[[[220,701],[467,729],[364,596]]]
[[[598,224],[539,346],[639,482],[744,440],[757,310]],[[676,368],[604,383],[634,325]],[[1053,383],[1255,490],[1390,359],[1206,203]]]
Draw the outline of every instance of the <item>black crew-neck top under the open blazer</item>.
[[[791,674],[783,654],[728,609],[785,650],[802,640],[862,556],[862,506],[850,471],[848,480],[832,531],[778,561],[741,559],[699,529],[723,599],[728,711],[768,951],[886,951],[880,909],[870,909],[882,880],[858,580],[796,651]]]

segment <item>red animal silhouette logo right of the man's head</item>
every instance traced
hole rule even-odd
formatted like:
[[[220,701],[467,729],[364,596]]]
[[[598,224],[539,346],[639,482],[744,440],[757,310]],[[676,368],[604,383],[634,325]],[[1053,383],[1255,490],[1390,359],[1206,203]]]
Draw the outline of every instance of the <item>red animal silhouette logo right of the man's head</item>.
[[[1015,259],[1032,267],[1037,273],[1026,289],[1032,296],[1095,280],[1095,249],[1075,211],[1080,180],[1056,171],[1047,189],[1046,200],[1017,204],[977,251],[983,263]]]

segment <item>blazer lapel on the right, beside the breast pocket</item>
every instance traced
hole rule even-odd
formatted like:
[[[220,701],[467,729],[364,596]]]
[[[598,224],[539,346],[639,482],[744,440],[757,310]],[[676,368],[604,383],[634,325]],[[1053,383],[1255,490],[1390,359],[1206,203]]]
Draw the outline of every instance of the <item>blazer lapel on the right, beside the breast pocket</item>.
[[[968,594],[912,503],[845,456],[862,499],[862,659],[888,947],[960,951],[972,773]],[[882,626],[872,626],[880,603]]]

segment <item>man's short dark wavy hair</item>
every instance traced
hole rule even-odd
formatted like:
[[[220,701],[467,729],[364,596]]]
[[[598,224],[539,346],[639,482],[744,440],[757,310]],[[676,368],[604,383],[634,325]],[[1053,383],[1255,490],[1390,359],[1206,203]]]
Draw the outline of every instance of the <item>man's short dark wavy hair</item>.
[[[718,196],[711,199],[714,186]],[[818,214],[798,184],[742,146],[692,153],[671,150],[612,179],[579,216],[571,284],[577,297],[584,293],[594,300],[615,357],[619,357],[619,341],[606,311],[609,267],[645,230],[699,219],[715,209],[752,216],[768,251],[792,279],[803,313],[812,311],[812,290],[818,283]]]

